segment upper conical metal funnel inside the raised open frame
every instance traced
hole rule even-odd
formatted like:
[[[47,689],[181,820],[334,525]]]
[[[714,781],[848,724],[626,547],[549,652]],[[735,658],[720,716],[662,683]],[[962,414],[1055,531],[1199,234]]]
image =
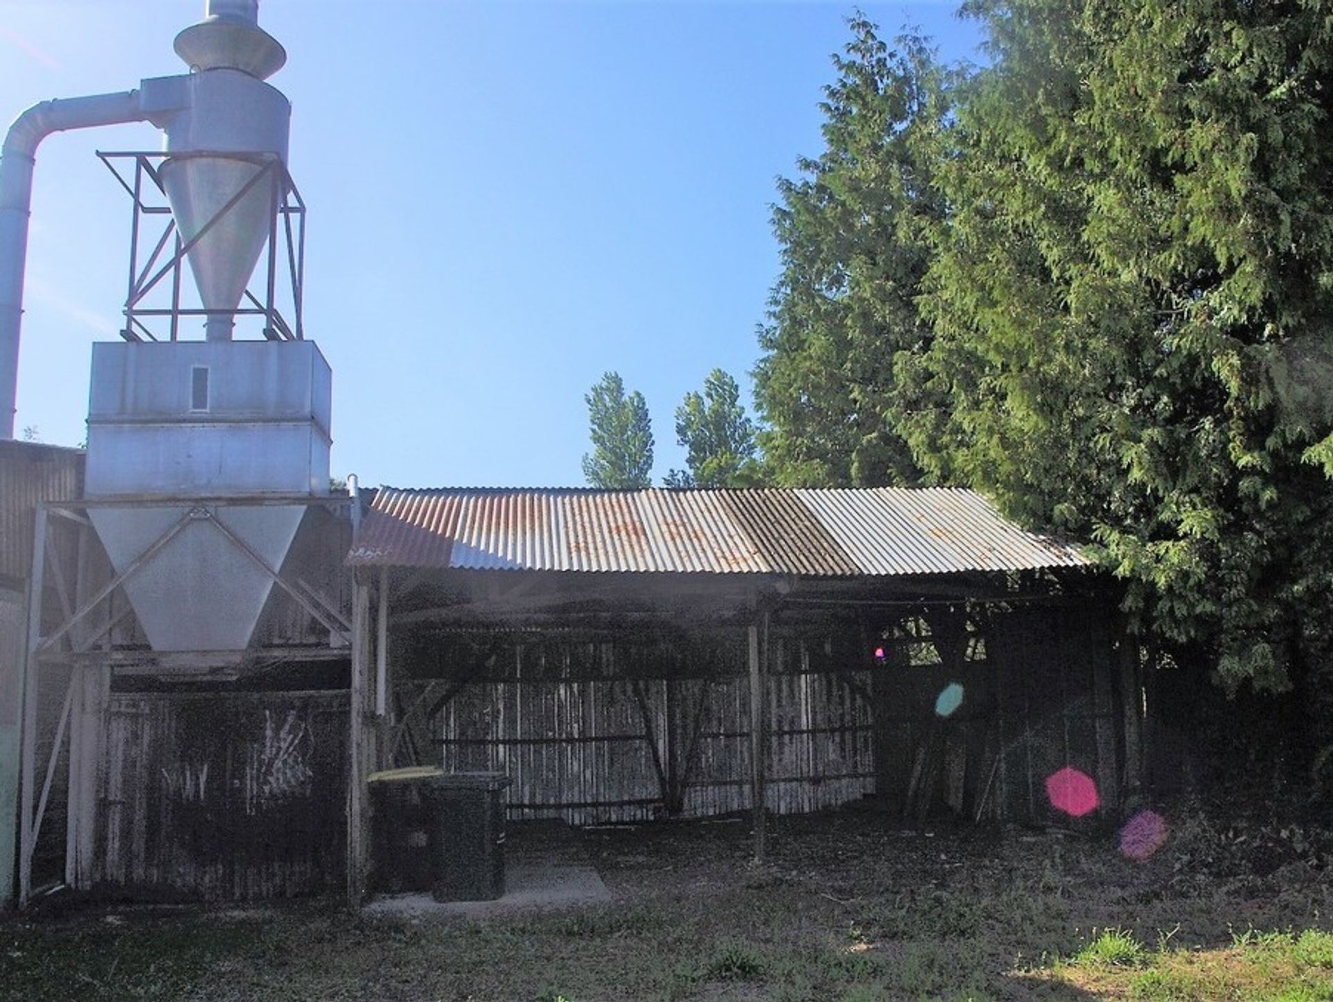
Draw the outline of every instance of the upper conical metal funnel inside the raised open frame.
[[[209,341],[231,340],[236,308],[269,236],[281,175],[269,169],[256,181],[261,172],[261,164],[223,156],[172,157],[160,169],[181,240],[199,237],[187,257],[200,302],[209,310],[204,322]]]

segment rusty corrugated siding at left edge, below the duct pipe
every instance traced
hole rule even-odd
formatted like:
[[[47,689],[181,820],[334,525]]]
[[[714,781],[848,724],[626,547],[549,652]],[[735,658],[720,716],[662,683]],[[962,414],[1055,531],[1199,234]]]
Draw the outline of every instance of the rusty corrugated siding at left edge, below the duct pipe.
[[[41,501],[81,497],[83,469],[80,449],[0,441],[0,580],[27,580],[33,509]]]

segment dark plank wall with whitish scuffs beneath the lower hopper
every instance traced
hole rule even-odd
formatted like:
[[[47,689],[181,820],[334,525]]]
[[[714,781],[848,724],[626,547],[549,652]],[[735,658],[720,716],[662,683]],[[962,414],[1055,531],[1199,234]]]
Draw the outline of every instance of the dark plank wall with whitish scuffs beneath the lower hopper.
[[[112,696],[96,881],[204,899],[343,879],[345,692]]]

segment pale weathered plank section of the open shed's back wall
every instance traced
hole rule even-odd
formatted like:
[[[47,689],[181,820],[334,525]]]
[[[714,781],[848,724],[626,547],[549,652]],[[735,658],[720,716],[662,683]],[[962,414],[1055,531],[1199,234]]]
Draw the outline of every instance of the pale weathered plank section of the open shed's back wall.
[[[463,684],[433,734],[447,770],[512,777],[511,817],[587,825],[750,806],[749,682],[738,646],[694,661],[609,642],[573,654],[528,645],[541,646],[540,657],[521,646],[500,660],[513,664],[513,677]],[[869,708],[849,676],[802,672],[800,644],[789,650],[792,666],[768,690],[768,803],[784,814],[860,797],[874,775]],[[611,677],[579,677],[587,672]]]

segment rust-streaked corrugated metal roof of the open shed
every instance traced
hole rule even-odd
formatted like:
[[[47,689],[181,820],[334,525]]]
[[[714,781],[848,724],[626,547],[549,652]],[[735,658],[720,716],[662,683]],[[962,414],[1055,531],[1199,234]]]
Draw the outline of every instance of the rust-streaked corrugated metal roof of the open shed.
[[[380,488],[348,562],[857,577],[1089,564],[958,488]]]

